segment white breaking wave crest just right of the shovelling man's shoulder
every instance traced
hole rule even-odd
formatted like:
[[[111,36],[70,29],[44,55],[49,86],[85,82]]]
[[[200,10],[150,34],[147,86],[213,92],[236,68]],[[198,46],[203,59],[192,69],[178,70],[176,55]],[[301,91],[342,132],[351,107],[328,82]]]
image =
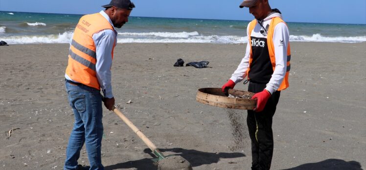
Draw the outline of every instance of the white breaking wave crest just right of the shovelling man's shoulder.
[[[191,36],[198,36],[197,31],[194,32],[145,32],[145,33],[132,33],[132,32],[122,32],[118,35],[124,36],[158,36],[165,38],[188,38]]]

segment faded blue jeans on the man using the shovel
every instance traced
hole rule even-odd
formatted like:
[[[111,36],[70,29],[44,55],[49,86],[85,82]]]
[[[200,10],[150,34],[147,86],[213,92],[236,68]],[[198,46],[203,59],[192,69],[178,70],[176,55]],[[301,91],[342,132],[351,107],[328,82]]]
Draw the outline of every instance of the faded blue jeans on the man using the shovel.
[[[90,170],[104,170],[101,160],[103,113],[100,91],[87,85],[74,85],[69,82],[65,85],[75,123],[66,149],[64,170],[77,169],[77,160],[84,143]]]

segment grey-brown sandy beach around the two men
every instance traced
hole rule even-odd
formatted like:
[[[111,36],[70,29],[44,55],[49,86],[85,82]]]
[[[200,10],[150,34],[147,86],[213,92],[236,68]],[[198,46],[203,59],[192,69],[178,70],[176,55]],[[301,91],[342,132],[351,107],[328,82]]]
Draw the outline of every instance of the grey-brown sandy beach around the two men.
[[[184,157],[194,170],[249,170],[247,111],[196,102],[199,88],[227,82],[245,46],[119,43],[112,66],[116,105],[165,155]],[[291,49],[290,87],[273,120],[272,170],[365,169],[366,43],[298,42]],[[69,44],[0,46],[0,170],[63,168],[74,120],[64,81],[68,51]],[[179,58],[210,63],[174,67]],[[245,125],[241,146],[230,113]],[[105,169],[156,170],[135,133],[113,112],[103,114]],[[85,147],[79,164],[89,164]]]

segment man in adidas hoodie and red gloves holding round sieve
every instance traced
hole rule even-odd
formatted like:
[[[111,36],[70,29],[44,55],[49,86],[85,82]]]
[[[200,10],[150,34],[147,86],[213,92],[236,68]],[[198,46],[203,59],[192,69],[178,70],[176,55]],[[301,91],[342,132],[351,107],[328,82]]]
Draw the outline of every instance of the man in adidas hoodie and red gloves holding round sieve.
[[[257,99],[254,110],[248,110],[247,125],[252,141],[252,170],[269,170],[274,149],[272,118],[280,91],[289,86],[291,51],[289,30],[277,9],[268,0],[244,0],[254,20],[248,24],[246,53],[228,83],[225,92],[248,76],[248,91]]]

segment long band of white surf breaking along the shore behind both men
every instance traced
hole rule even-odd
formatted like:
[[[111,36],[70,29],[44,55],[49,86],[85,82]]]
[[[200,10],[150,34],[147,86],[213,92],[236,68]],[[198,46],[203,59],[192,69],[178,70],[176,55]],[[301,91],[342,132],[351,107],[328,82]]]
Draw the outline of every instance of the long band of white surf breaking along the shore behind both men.
[[[7,28],[6,28],[7,29]],[[4,26],[0,26],[0,32],[5,31]],[[6,33],[8,30],[6,30]],[[2,35],[6,35],[2,34]],[[9,36],[0,39],[9,44],[23,43],[69,43],[72,31],[62,34],[39,35],[39,36]],[[223,43],[237,44],[248,43],[248,37],[241,36],[203,36],[198,32],[147,32],[147,33],[119,33],[118,43]],[[360,43],[366,42],[366,36],[359,37],[323,37],[320,34],[313,36],[290,36],[290,42],[339,42],[339,43]]]

